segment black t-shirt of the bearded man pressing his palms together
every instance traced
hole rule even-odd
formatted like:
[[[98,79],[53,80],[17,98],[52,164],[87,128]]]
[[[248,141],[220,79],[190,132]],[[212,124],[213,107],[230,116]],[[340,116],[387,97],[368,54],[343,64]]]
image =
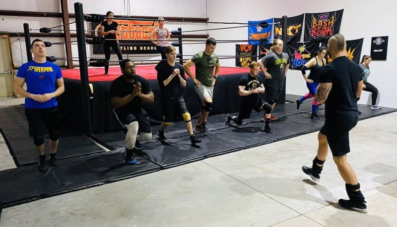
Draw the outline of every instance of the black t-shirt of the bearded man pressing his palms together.
[[[143,94],[152,92],[149,83],[143,77],[136,75],[136,78],[132,83],[127,83],[127,81],[124,79],[124,76],[121,75],[112,82],[112,86],[110,87],[110,97],[125,97],[131,94],[134,85],[136,85],[138,82],[140,83],[140,91]],[[141,112],[141,106],[142,99],[138,96],[135,96],[129,103],[127,103],[127,105],[116,109],[116,113],[123,115],[129,113],[138,114]]]

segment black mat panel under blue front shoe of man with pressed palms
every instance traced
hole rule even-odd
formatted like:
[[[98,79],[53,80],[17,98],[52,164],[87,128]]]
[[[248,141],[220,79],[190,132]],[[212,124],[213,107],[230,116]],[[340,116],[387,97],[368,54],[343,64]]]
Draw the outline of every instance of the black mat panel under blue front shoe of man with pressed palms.
[[[126,150],[122,148],[100,154],[86,155],[80,158],[99,177],[105,178],[106,182],[120,181],[160,170],[159,166],[142,157],[136,158],[140,163],[139,165],[126,165],[124,163],[125,153]]]

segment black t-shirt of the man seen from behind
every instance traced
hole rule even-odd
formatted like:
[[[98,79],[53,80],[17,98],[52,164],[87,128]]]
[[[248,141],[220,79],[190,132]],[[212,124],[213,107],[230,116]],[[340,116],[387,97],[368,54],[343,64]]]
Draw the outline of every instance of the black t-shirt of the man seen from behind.
[[[362,80],[361,68],[347,57],[337,57],[320,71],[320,83],[332,83],[326,100],[326,119],[358,116],[357,83]]]

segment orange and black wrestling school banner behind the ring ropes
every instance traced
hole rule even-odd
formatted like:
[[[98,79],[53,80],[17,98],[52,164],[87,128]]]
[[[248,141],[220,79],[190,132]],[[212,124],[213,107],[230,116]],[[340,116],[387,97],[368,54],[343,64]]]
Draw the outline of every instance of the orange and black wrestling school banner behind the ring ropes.
[[[119,40],[123,54],[158,53],[156,46],[149,39],[149,34],[158,26],[158,21],[139,20],[114,20],[119,24],[120,34],[116,36]],[[92,36],[101,36],[101,23],[91,23]],[[157,35],[154,39],[157,39]],[[93,54],[104,54],[103,45],[93,45]]]

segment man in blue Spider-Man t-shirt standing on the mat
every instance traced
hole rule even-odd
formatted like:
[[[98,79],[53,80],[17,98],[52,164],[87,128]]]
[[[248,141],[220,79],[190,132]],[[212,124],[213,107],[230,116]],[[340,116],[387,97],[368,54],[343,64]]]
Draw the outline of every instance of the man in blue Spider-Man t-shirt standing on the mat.
[[[59,141],[57,96],[65,91],[64,79],[58,65],[46,60],[46,46],[36,39],[30,46],[34,60],[22,64],[16,74],[14,91],[25,97],[25,115],[29,125],[29,136],[39,152],[39,171],[46,170],[44,154],[44,131],[50,137],[50,165],[58,166],[57,147]],[[22,87],[26,83],[27,90]]]

